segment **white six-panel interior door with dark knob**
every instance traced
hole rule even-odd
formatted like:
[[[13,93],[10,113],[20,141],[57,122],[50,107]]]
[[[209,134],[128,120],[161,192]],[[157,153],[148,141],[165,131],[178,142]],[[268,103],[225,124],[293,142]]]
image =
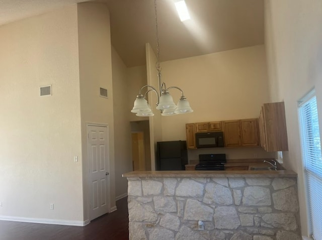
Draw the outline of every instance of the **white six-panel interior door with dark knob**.
[[[90,220],[109,211],[108,127],[88,125]]]

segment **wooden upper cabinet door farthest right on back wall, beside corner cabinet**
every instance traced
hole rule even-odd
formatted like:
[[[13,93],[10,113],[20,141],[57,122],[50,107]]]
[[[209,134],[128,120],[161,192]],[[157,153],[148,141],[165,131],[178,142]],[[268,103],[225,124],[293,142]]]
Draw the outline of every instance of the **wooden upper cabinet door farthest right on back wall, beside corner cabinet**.
[[[241,146],[259,146],[257,122],[257,118],[240,120]]]

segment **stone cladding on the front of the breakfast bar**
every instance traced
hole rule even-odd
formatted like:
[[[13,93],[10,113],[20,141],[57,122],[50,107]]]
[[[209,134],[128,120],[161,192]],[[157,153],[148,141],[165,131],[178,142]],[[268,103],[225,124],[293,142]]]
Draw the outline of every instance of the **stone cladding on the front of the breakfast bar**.
[[[130,240],[301,239],[295,177],[129,177],[128,208]]]

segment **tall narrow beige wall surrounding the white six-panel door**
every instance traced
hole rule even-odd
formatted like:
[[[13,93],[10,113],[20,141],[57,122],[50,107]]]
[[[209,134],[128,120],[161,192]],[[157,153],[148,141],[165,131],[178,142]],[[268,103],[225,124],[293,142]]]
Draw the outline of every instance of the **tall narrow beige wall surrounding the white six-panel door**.
[[[107,124],[109,129],[110,207],[115,209],[114,111],[110,15],[105,4],[77,5],[79,82],[81,89],[84,218],[89,219],[87,123]],[[99,96],[108,89],[108,99]]]

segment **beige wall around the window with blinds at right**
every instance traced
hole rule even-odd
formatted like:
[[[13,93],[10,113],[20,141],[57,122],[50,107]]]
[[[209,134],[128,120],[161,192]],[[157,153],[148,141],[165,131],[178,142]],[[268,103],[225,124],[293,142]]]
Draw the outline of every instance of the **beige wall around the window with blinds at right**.
[[[265,1],[269,83],[272,101],[285,101],[289,151],[284,165],[298,174],[302,235],[308,234],[297,101],[315,87],[322,136],[322,2]]]

